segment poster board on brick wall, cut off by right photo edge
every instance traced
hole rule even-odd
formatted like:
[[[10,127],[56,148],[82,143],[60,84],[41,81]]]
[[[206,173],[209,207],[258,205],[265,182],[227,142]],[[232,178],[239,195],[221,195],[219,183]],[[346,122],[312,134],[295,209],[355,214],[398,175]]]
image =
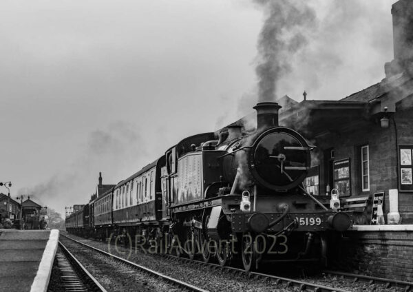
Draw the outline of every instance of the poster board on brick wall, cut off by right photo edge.
[[[399,147],[399,189],[400,191],[413,191],[413,146]]]

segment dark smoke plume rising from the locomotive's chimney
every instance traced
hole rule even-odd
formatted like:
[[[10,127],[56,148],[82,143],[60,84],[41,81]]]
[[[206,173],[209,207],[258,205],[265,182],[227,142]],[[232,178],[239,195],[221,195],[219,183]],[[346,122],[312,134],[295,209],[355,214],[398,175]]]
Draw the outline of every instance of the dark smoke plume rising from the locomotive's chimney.
[[[301,0],[255,0],[264,10],[257,50],[258,101],[274,101],[277,83],[291,70],[294,55],[307,44],[315,11]]]

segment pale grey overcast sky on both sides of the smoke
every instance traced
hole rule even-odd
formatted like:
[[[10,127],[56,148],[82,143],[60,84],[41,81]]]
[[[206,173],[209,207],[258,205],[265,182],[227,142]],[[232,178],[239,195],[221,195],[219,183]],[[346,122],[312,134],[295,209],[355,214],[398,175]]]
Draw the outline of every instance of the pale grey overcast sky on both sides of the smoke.
[[[337,100],[381,81],[395,1],[308,0],[317,21],[277,94]],[[99,171],[118,183],[252,112],[263,20],[247,0],[1,1],[0,181],[64,213]]]

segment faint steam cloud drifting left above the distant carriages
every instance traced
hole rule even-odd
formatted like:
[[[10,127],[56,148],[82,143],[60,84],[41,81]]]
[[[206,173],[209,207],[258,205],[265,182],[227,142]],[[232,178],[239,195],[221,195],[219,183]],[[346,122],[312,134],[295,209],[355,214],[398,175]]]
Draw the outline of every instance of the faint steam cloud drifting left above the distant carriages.
[[[114,178],[126,178],[149,161],[145,158],[145,143],[136,127],[116,122],[107,129],[89,134],[85,149],[64,171],[33,187],[19,189],[41,205],[54,209],[74,204],[85,204],[98,183],[98,172],[103,172],[104,184],[116,184]],[[105,179],[106,178],[106,179]]]

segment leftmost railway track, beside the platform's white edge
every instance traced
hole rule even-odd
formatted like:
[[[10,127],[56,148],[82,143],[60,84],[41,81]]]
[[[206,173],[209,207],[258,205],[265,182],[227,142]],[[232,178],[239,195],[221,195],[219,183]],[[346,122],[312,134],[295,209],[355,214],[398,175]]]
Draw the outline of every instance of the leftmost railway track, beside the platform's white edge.
[[[60,250],[56,253],[57,266],[61,271],[61,282],[65,291],[106,292],[106,289],[83,267],[72,253],[59,241]]]

